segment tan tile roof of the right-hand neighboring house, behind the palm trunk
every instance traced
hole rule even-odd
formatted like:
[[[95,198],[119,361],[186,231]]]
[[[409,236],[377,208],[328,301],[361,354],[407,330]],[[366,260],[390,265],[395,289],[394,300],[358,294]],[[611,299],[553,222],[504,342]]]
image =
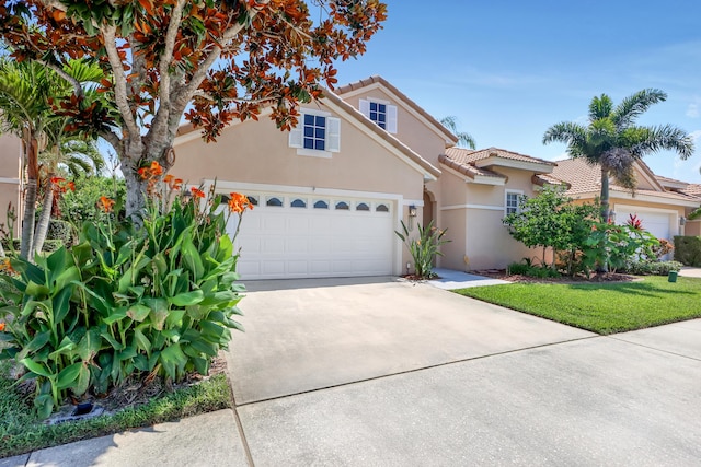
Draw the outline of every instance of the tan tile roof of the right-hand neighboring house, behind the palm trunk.
[[[589,165],[582,159],[558,161],[558,165],[553,168],[550,177],[567,183],[570,185],[567,195],[570,196],[588,192],[598,194],[601,190],[601,170],[598,165]],[[628,188],[616,185],[614,179],[611,180],[609,189],[618,192],[630,192]],[[693,196],[678,191],[658,191],[636,188],[635,194],[686,201],[696,200]]]

